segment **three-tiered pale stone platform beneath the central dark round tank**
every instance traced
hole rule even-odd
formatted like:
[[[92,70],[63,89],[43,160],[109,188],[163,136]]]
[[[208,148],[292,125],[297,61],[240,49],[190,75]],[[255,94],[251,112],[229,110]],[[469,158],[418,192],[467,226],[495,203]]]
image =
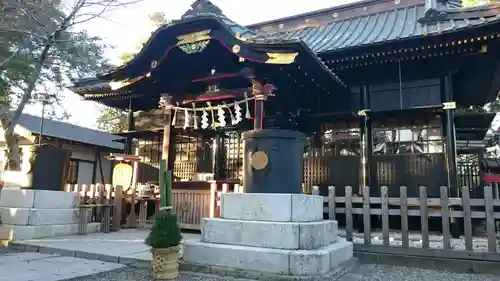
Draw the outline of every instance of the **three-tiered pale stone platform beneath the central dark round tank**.
[[[185,241],[181,268],[261,280],[334,280],[353,265],[352,243],[323,220],[323,198],[223,194],[221,218]]]

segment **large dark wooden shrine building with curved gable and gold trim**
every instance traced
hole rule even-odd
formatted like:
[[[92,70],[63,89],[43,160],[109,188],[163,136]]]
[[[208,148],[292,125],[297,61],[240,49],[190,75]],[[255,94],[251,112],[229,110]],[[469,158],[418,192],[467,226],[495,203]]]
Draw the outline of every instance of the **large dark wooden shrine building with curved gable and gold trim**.
[[[140,180],[157,180],[167,152],[178,180],[200,173],[240,179],[241,132],[262,122],[307,134],[306,190],[350,185],[359,193],[369,185],[378,193],[385,185],[397,196],[405,185],[418,197],[425,185],[434,188],[431,197],[443,185],[450,194],[481,185],[483,139],[494,116],[469,108],[497,97],[500,6],[361,1],[248,27],[210,1],[192,7],[132,61],[72,88],[130,112],[124,135],[129,144],[140,140],[149,166]],[[252,119],[237,125],[183,129],[182,113],[159,109],[163,94],[172,105],[219,106],[251,96],[255,83],[272,86],[270,95],[252,101]]]

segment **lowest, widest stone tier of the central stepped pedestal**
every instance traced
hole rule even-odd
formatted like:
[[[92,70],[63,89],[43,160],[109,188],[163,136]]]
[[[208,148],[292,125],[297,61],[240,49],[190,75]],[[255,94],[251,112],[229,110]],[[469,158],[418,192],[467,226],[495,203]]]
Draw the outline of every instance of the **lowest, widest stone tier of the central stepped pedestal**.
[[[352,258],[352,243],[337,243],[316,250],[281,250],[262,247],[184,241],[183,261],[294,276],[324,275]]]

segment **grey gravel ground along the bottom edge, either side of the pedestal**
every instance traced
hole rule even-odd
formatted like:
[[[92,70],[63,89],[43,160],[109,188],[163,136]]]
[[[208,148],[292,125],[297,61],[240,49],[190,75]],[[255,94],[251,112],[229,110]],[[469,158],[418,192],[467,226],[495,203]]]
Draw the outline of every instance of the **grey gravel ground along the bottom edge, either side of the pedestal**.
[[[147,269],[122,268],[93,276],[64,281],[151,281]],[[209,275],[184,275],[177,281],[223,281],[242,280]],[[441,270],[427,270],[400,266],[364,264],[338,281],[498,281],[500,276],[452,273]]]

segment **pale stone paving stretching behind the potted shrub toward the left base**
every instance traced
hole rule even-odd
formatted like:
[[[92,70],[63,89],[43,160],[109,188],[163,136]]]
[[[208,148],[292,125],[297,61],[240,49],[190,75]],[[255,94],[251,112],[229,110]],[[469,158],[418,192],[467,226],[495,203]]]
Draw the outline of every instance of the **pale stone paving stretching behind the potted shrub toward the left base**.
[[[151,253],[144,244],[147,230],[123,229],[111,233],[91,233],[13,242],[9,246],[22,252],[58,254],[106,262],[149,267]],[[184,239],[199,239],[199,234],[184,233]]]

